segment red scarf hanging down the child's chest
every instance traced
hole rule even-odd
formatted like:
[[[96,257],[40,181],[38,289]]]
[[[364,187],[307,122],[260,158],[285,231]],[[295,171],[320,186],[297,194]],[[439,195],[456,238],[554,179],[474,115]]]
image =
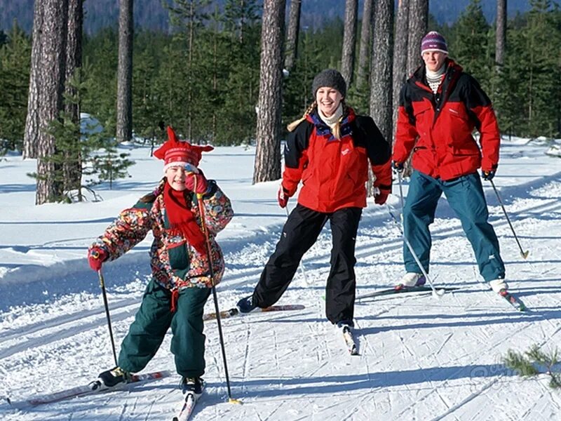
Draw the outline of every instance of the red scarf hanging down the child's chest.
[[[198,226],[195,215],[191,212],[190,203],[187,203],[185,199],[184,192],[174,190],[170,185],[166,185],[163,190],[163,203],[165,211],[168,213],[172,234],[183,234],[198,253],[205,255],[205,234]]]

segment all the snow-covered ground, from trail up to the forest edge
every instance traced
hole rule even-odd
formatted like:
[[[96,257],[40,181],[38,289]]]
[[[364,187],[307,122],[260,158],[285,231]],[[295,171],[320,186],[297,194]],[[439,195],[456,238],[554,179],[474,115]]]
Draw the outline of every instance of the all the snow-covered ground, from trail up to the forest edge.
[[[524,260],[499,201],[484,182],[511,290],[530,311],[515,312],[487,289],[459,221],[442,199],[432,226],[431,275],[460,289],[440,300],[430,293],[356,302],[360,356],[350,356],[325,319],[330,232],[304,256],[279,304],[296,312],[251,314],[222,321],[231,394],[228,403],[217,325],[206,323],[208,388],[194,420],[558,420],[561,394],[548,378],[522,380],[506,369],[508,349],[561,344],[561,166],[543,140],[504,140],[494,182],[516,230]],[[86,260],[88,244],[119,210],[149,192],[162,163],[149,149],[127,147],[137,162],[131,178],[103,201],[34,206],[35,161],[0,161],[0,396],[15,401],[81,385],[113,366],[99,282]],[[219,235],[227,271],[217,288],[222,309],[248,295],[272,253],[285,210],[278,182],[252,186],[255,148],[218,147],[201,168],[234,203],[236,216]],[[405,192],[407,182],[405,182]],[[394,192],[398,192],[397,186]],[[399,211],[398,196],[388,201]],[[291,199],[289,207],[295,205]],[[128,326],[149,279],[147,239],[104,265],[116,341]],[[403,273],[400,232],[386,206],[372,201],[357,238],[358,295],[391,286]],[[208,312],[214,308],[212,298]],[[146,371],[172,370],[170,335]],[[0,403],[2,420],[170,420],[180,404],[178,376],[124,392],[36,408]]]

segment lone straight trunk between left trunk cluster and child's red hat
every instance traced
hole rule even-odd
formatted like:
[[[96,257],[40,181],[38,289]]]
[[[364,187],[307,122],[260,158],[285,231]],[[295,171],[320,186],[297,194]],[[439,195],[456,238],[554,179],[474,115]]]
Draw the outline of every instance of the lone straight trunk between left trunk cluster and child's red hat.
[[[119,67],[117,127],[119,142],[133,136],[133,0],[119,0]]]

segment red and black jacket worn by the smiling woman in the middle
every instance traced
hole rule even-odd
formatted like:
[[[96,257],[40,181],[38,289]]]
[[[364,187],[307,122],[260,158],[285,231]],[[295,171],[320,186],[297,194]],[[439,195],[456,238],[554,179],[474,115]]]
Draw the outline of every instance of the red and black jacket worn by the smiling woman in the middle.
[[[340,139],[314,110],[288,136],[284,156],[283,187],[292,196],[302,180],[298,203],[318,212],[366,206],[369,160],[374,187],[391,190],[391,148],[370,116],[350,108]]]

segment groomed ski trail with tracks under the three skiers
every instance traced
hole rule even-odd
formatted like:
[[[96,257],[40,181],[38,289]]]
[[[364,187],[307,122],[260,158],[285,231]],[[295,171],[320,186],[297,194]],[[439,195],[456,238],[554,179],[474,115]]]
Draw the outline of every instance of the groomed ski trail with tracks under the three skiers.
[[[339,330],[325,321],[325,277],[329,271],[330,232],[324,230],[304,256],[301,272],[281,303],[304,304],[293,312],[250,314],[224,319],[232,396],[216,323],[205,324],[207,387],[192,420],[552,420],[561,414],[561,396],[548,379],[522,380],[501,364],[509,348],[561,343],[561,276],[558,221],[561,175],[532,185],[500,190],[501,199],[525,250],[527,261],[494,193],[486,189],[490,221],[501,243],[511,290],[530,311],[515,312],[480,280],[473,252],[459,220],[442,200],[431,226],[431,276],[438,286],[459,286],[436,300],[431,293],[396,295],[356,302],[359,356],[350,356]],[[528,193],[530,192],[530,193]],[[548,192],[553,192],[548,196]],[[381,210],[380,210],[381,209]],[[250,293],[280,226],[225,241],[227,272],[217,287],[221,309]],[[48,247],[50,243],[38,245]],[[357,295],[387,288],[403,273],[400,233],[384,208],[363,214],[357,236]],[[140,253],[145,259],[145,250]],[[139,256],[140,256],[139,255]],[[140,259],[140,258],[139,258]],[[128,283],[136,258],[109,269],[111,321],[116,344],[133,320],[147,274]],[[117,262],[116,262],[117,263]],[[119,270],[123,270],[119,274]],[[144,269],[147,270],[146,265]],[[143,269],[143,270],[144,270]],[[34,269],[31,269],[34,270]],[[70,279],[91,279],[83,266],[69,263]],[[20,276],[25,275],[25,268]],[[136,276],[138,278],[138,276]],[[57,290],[58,274],[43,275],[46,290]],[[3,286],[11,297],[19,286]],[[16,400],[88,382],[112,366],[107,324],[95,283],[74,286],[56,298],[28,296],[0,312],[0,396]],[[82,288],[82,289],[80,289]],[[27,310],[27,311],[26,311]],[[208,312],[214,307],[210,298]],[[172,370],[170,334],[146,370]],[[85,363],[84,363],[85,362]],[[182,399],[178,377],[123,392],[84,396],[16,410],[0,403],[2,420],[170,420]]]

